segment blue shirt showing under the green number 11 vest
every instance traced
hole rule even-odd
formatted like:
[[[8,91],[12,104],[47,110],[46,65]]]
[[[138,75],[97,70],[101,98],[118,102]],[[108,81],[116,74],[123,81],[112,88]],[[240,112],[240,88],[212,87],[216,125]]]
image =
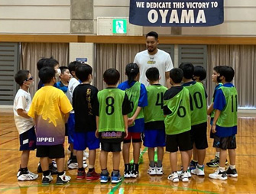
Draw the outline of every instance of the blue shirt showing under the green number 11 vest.
[[[223,84],[222,87],[234,87],[234,85],[231,82],[227,82]],[[222,89],[218,89],[215,93],[215,99],[214,99],[214,104],[213,108],[219,111],[222,111],[225,108],[226,102],[225,102],[225,95],[222,92]],[[225,128],[225,127],[220,127],[219,125],[216,124],[216,133],[215,135],[219,137],[230,137],[234,134],[237,134],[238,132],[238,126],[230,127],[230,128]]]

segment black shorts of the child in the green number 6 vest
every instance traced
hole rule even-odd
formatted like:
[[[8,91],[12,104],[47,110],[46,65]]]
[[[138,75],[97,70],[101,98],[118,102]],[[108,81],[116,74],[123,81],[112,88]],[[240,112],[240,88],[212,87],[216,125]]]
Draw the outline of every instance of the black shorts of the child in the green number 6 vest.
[[[192,150],[193,146],[190,141],[190,131],[182,134],[167,134],[166,151],[177,152]]]

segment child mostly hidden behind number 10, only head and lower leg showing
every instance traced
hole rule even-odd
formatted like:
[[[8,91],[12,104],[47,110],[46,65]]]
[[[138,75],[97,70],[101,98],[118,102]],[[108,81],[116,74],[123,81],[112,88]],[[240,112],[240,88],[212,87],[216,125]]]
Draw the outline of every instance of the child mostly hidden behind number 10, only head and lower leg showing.
[[[204,79],[206,79],[206,70],[203,68],[203,66],[194,66],[193,80],[203,84]],[[193,149],[193,160],[190,161],[190,170],[196,169],[197,163],[197,152],[196,149]]]

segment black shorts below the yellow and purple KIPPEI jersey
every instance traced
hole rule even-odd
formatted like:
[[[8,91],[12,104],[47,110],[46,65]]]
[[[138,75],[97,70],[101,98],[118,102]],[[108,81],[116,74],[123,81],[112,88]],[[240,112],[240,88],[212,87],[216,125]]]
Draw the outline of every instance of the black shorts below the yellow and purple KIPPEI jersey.
[[[37,157],[49,157],[51,159],[63,158],[65,157],[63,144],[50,146],[39,145],[37,146]]]

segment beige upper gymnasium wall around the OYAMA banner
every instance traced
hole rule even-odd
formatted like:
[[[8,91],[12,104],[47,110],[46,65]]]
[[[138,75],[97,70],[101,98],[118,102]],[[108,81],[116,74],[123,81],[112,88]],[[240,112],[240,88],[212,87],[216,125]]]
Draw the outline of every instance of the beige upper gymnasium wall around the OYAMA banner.
[[[256,1],[225,0],[225,22],[181,27],[177,35],[255,36]],[[128,17],[128,0],[1,0],[0,34],[96,34],[98,17]],[[173,28],[174,29],[174,28]],[[172,34],[171,27],[143,27]]]

